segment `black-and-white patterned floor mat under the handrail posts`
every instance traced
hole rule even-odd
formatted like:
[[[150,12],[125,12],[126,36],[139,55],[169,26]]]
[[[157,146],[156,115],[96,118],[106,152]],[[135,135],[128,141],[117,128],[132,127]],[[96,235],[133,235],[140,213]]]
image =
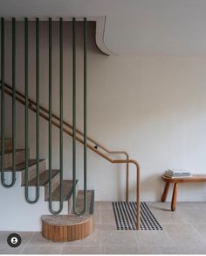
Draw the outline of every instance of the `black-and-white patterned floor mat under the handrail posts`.
[[[113,213],[117,230],[136,230],[136,203],[113,202]],[[161,224],[148,208],[147,203],[141,203],[141,230],[162,231]]]

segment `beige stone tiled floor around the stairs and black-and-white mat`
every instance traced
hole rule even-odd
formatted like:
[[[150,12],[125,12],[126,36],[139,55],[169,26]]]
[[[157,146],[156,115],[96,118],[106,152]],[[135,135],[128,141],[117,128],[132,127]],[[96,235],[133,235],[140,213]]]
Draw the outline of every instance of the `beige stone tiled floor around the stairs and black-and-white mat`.
[[[0,253],[21,254],[206,254],[206,203],[148,203],[163,231],[116,231],[112,203],[95,203],[93,234],[83,240],[53,243],[39,232],[18,232],[22,245],[10,248],[10,232],[0,231]]]

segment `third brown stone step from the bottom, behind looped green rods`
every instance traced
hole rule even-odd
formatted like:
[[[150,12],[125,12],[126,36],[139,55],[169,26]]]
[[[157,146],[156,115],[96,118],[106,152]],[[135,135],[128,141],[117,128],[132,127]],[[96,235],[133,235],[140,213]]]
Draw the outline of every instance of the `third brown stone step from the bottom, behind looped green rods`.
[[[77,182],[78,182],[78,180],[76,181],[76,184],[77,184]],[[63,201],[68,201],[72,196],[72,181],[65,180],[65,181],[63,181],[62,186],[63,186]],[[53,191],[52,201],[60,201],[59,188],[60,188],[60,186],[58,185],[58,188],[56,188]],[[45,198],[45,201],[49,201],[48,196]]]

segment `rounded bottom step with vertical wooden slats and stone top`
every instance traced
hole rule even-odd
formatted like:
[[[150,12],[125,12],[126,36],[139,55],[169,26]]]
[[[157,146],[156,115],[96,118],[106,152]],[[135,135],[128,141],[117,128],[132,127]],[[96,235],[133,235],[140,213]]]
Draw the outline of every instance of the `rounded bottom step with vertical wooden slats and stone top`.
[[[42,235],[54,242],[86,238],[93,232],[93,215],[42,216]]]

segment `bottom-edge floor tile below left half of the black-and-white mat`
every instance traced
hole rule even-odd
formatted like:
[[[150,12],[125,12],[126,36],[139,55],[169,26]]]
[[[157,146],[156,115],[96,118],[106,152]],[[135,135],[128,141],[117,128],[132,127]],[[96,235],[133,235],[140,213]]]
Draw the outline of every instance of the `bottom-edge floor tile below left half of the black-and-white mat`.
[[[138,245],[102,245],[103,254],[137,254],[140,252]]]

